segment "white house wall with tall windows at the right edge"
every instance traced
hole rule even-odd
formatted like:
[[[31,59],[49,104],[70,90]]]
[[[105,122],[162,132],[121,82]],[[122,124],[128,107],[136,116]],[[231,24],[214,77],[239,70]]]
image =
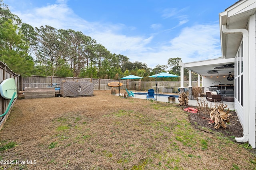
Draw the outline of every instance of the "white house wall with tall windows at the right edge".
[[[249,144],[252,148],[256,148],[256,14],[254,13],[252,16],[248,18],[248,47],[244,46],[243,53],[241,54],[242,41],[240,42],[240,46],[237,49],[236,57],[235,57],[235,109],[238,116],[238,119],[244,128],[244,135],[248,135]],[[244,42],[245,43],[245,42]],[[247,43],[246,43],[247,44]],[[245,50],[248,50],[248,56],[245,55]],[[243,55],[243,59],[241,56]],[[244,65],[241,61],[245,61]],[[240,61],[240,63],[239,63]],[[238,64],[239,63],[239,64]],[[248,73],[243,70],[248,69]],[[247,77],[243,84],[247,86],[243,86],[241,84],[241,76],[244,75]],[[240,80],[238,80],[238,78]],[[238,83],[240,85],[238,85]],[[248,86],[249,85],[249,86]],[[246,88],[248,87],[248,88]],[[243,89],[243,90],[242,90]],[[249,92],[249,93],[248,93]],[[243,94],[247,94],[244,96]],[[242,102],[242,98],[244,101]],[[248,114],[248,117],[246,117]],[[247,120],[248,119],[248,120]],[[248,128],[248,129],[246,129]],[[248,134],[247,134],[248,131]]]

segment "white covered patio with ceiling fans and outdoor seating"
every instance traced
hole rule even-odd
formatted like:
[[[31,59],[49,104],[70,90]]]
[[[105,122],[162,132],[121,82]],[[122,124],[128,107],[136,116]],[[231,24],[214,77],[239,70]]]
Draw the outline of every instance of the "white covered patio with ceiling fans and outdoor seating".
[[[198,74],[198,87],[203,89],[203,93],[207,91],[215,92],[221,90],[222,92],[229,91],[228,93],[234,94],[234,59],[211,59],[205,61],[197,61],[190,63],[180,62],[180,81],[181,89],[184,81],[184,68],[189,70],[189,99],[192,100],[192,86],[191,74],[192,72]],[[202,81],[202,84],[200,82]],[[228,96],[228,95],[227,95]],[[228,99],[226,95],[222,95],[223,101],[234,101]]]

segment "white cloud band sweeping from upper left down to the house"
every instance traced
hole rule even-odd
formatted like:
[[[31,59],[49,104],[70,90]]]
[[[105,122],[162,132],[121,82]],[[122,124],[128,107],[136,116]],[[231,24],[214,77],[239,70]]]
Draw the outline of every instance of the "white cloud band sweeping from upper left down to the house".
[[[127,27],[124,24],[88,22],[76,14],[66,4],[65,0],[60,4],[48,4],[42,8],[32,8],[27,11],[12,11],[18,15],[23,22],[39,27],[50,25],[57,29],[74,29],[82,31],[85,35],[96,39],[111,53],[125,55],[130,61],[139,61],[154,68],[158,64],[167,64],[168,59],[180,57],[183,62],[199,61],[218,58],[221,56],[219,42],[219,25],[194,25],[181,29],[180,34],[173,39],[162,40],[152,44],[157,34],[151,36],[128,36],[122,32],[134,30],[136,27]],[[64,3],[62,3],[64,2]],[[186,10],[172,9],[163,15],[166,18]],[[176,16],[179,24],[188,22],[186,16]],[[151,28],[159,29],[161,24],[152,24]],[[154,35],[154,36],[153,36]],[[160,45],[161,44],[161,45]]]

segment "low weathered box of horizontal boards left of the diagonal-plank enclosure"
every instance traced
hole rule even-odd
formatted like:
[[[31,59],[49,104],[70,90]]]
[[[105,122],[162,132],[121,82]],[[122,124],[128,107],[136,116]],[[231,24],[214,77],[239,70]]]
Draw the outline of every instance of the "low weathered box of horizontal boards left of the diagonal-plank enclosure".
[[[25,88],[24,96],[25,99],[53,98],[55,97],[55,88]]]

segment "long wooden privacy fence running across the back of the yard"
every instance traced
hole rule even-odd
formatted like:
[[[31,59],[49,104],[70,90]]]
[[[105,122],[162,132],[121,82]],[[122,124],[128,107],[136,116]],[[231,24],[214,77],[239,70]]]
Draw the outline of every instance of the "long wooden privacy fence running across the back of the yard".
[[[110,90],[112,87],[108,86],[110,82],[118,82],[118,80],[111,79],[99,79],[99,78],[78,78],[78,77],[56,77],[56,76],[30,76],[30,77],[22,77],[21,84],[19,90],[24,90],[25,87],[30,88],[40,88],[40,87],[52,87],[52,84],[60,85],[62,81],[76,81],[76,82],[92,82],[94,90]],[[123,84],[120,86],[120,90],[125,88],[130,90],[142,90],[147,91],[148,89],[156,90],[159,88],[159,92],[178,92],[178,88],[180,87],[180,82],[139,82],[139,80],[120,80]],[[140,86],[139,86],[140,83]],[[188,87],[189,82],[184,82],[184,87]],[[198,82],[192,82],[192,86],[198,86]],[[118,87],[116,87],[118,89]]]

